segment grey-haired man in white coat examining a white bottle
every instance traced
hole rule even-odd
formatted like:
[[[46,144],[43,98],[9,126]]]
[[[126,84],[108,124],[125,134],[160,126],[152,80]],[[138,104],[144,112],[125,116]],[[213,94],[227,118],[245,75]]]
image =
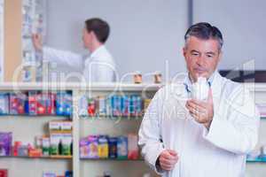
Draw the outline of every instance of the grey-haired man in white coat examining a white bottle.
[[[258,140],[254,100],[216,72],[223,46],[218,28],[198,23],[184,38],[188,74],[156,93],[139,129],[145,161],[168,177],[244,177],[246,153]],[[203,101],[191,98],[198,77],[209,86]]]

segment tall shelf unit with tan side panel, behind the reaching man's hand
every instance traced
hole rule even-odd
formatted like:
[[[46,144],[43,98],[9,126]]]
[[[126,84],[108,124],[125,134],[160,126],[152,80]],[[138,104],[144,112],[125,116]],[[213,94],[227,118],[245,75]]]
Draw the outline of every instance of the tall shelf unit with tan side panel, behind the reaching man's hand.
[[[1,62],[2,81],[42,81],[42,55],[31,35],[45,35],[45,13],[46,0],[4,0],[3,58],[10,59]]]

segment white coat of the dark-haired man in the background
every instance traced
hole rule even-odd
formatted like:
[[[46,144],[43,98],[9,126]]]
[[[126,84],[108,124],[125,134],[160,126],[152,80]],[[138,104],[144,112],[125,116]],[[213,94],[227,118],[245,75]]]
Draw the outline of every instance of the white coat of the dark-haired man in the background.
[[[86,81],[115,81],[115,64],[104,45],[93,51],[89,58],[70,51],[55,50],[44,46],[43,59],[82,71]]]

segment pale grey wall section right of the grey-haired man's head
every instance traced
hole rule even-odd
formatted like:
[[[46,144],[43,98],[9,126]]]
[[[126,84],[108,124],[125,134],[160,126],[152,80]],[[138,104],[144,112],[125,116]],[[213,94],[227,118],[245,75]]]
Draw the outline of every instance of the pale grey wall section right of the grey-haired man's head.
[[[194,0],[193,22],[208,21],[220,28],[224,38],[222,69],[232,69],[254,59],[265,70],[266,1]]]

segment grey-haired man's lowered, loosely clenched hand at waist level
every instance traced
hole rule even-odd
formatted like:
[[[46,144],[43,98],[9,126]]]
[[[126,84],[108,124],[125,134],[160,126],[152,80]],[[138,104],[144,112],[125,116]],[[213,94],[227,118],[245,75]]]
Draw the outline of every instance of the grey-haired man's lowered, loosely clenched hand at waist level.
[[[175,150],[163,150],[159,156],[160,168],[166,171],[172,170],[178,161]]]

